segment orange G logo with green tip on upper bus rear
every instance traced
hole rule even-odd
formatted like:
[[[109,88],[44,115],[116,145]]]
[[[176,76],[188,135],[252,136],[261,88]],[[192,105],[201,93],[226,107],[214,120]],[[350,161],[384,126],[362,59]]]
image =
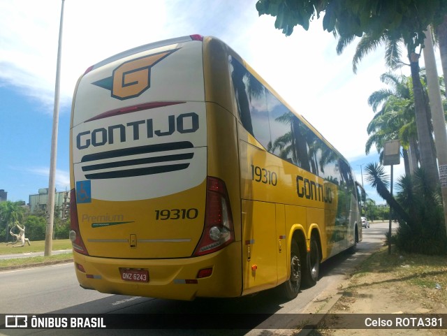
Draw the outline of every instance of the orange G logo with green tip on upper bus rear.
[[[152,66],[177,50],[159,52],[126,61],[115,68],[112,77],[98,80],[92,84],[110,90],[111,96],[120,100],[138,97],[150,87]]]

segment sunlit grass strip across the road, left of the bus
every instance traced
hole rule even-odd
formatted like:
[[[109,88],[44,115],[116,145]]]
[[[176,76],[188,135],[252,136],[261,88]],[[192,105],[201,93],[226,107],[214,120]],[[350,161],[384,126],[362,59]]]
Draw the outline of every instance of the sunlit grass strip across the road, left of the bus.
[[[68,239],[53,240],[52,250],[71,249],[71,241]],[[25,244],[24,247],[12,247],[6,243],[0,244],[0,255],[4,254],[26,254],[31,252],[45,251],[45,240],[33,241],[31,246]],[[1,259],[0,270],[7,270],[10,268],[29,267],[31,265],[45,265],[47,263],[59,263],[70,261],[73,259],[71,251],[64,254],[56,254],[52,256],[24,256],[23,258]]]

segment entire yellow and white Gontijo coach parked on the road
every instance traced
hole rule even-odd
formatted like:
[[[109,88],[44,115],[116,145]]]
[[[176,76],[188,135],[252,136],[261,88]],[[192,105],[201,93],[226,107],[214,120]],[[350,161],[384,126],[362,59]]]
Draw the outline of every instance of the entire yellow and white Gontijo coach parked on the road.
[[[349,163],[214,37],[87,69],[70,150],[83,288],[193,300],[279,287],[293,299],[362,240]]]

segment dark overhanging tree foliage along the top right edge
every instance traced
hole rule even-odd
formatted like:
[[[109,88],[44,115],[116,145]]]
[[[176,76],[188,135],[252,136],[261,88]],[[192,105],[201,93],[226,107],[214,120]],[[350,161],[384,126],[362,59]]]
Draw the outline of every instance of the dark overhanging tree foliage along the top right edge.
[[[446,13],[446,0],[259,0],[259,15],[276,17],[274,27],[286,36],[297,25],[305,30],[315,18],[323,15],[323,29],[343,38],[363,34],[391,40],[403,38],[406,44],[423,45],[429,24],[441,24]]]

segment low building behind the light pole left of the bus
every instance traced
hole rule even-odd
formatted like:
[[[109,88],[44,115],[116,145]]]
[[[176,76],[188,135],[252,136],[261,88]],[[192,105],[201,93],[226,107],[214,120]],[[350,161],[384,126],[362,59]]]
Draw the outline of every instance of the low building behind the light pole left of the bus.
[[[29,195],[29,212],[34,214],[39,211],[47,211],[48,188],[39,189],[38,193]],[[61,219],[66,219],[70,214],[70,193],[59,191],[54,194],[54,209]]]

